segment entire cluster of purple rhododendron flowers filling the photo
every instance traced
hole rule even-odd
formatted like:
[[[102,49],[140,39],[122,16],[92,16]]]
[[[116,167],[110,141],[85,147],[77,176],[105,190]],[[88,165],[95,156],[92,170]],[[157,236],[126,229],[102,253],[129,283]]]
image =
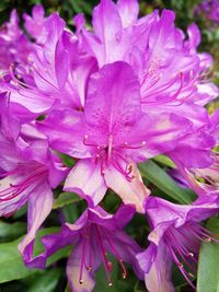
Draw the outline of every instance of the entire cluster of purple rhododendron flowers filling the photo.
[[[218,96],[212,58],[197,51],[195,24],[184,33],[172,11],[138,13],[137,0],[101,0],[92,28],[78,14],[72,33],[58,13],[45,16],[36,5],[23,15],[28,37],[15,11],[0,30],[0,215],[27,202],[27,234],[19,245],[27,267],[44,268],[56,250],[74,247],[67,275],[76,292],[93,290],[101,264],[113,284],[107,253],[124,279],[125,261],[150,292],[174,291],[172,264],[194,287],[200,243],[218,242],[200,224],[219,212],[219,112],[209,116],[205,107]],[[76,165],[65,166],[60,153]],[[192,205],[150,195],[138,163],[159,154],[196,192]],[[45,250],[34,256],[60,184],[88,209],[44,236]],[[115,214],[100,206],[108,189],[123,201]],[[123,230],[135,212],[150,221],[146,250]]]

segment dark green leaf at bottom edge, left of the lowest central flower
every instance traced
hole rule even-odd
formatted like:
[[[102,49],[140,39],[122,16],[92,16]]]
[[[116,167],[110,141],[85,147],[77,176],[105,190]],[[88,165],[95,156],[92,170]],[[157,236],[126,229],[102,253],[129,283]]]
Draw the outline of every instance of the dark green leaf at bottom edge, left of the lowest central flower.
[[[54,292],[61,277],[60,268],[51,269],[37,277],[27,292]]]

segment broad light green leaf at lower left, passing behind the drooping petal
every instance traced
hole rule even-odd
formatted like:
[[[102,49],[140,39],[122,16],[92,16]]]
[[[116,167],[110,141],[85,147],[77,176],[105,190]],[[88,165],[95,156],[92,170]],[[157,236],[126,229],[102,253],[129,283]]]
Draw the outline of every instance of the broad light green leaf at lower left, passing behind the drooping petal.
[[[41,254],[43,252],[41,237],[46,234],[57,232],[58,230],[58,227],[41,230],[34,247],[35,253]],[[10,243],[0,244],[0,283],[22,279],[34,272],[37,272],[37,270],[27,269],[24,266],[22,257],[18,250],[18,244],[21,242],[21,240],[22,237]],[[47,266],[60,258],[67,257],[70,253],[70,248],[71,247],[67,246],[49,257]]]

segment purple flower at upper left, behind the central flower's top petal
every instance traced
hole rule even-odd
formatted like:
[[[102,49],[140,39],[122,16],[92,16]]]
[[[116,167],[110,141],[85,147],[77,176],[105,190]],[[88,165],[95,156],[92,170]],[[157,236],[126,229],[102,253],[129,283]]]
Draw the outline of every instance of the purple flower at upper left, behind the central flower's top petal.
[[[32,46],[27,72],[20,72],[20,78],[12,74],[3,90],[11,92],[11,101],[36,114],[64,106],[82,109],[88,78],[96,70],[96,61],[79,49],[78,38],[65,30],[57,13],[42,25],[41,43]]]

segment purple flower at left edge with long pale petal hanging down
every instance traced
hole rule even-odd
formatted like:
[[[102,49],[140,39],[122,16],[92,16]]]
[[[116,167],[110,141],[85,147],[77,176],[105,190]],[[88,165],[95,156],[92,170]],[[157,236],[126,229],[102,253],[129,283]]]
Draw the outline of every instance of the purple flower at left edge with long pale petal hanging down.
[[[28,203],[28,232],[20,244],[20,250],[23,252],[32,244],[37,230],[51,211],[51,188],[60,184],[67,170],[50,152],[45,137],[38,140],[32,137],[30,141],[23,139],[22,125],[14,116],[18,109],[21,108],[1,94],[0,217],[9,217]]]

